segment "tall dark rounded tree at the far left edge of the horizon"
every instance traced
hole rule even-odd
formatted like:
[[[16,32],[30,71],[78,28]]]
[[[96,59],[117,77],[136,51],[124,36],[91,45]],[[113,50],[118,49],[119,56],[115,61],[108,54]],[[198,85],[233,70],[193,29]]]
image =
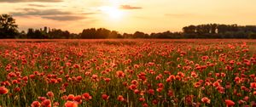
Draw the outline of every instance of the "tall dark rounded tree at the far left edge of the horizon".
[[[15,38],[18,35],[18,25],[9,14],[0,15],[0,38]]]

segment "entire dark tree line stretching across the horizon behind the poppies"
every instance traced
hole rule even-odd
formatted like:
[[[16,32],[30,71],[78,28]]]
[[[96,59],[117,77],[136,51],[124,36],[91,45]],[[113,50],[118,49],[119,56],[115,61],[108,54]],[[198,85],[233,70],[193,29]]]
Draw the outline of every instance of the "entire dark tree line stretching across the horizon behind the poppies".
[[[256,25],[188,25],[183,31],[164,31],[147,34],[142,31],[123,33],[110,31],[106,28],[84,29],[75,34],[61,29],[29,28],[27,31],[18,31],[15,19],[9,14],[0,15],[0,38],[32,38],[32,39],[107,39],[107,38],[256,38]]]

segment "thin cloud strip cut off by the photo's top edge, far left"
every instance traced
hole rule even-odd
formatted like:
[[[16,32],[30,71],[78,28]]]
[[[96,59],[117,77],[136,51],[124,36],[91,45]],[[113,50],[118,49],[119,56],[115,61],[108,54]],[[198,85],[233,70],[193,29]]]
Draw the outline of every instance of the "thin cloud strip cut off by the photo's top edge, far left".
[[[30,3],[30,2],[57,3],[57,2],[62,2],[62,0],[0,0],[0,3]]]

